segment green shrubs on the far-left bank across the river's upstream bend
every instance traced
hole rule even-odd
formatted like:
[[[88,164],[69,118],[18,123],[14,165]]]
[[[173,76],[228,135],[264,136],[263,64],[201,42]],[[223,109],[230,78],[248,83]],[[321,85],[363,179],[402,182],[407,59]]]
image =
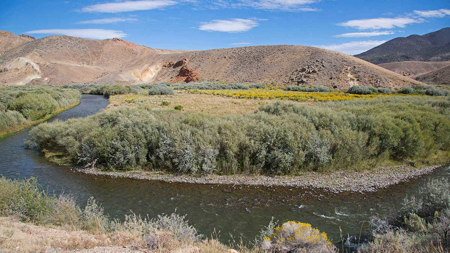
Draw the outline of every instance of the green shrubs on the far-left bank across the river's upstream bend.
[[[80,101],[75,89],[59,86],[0,87],[0,134],[30,125]]]

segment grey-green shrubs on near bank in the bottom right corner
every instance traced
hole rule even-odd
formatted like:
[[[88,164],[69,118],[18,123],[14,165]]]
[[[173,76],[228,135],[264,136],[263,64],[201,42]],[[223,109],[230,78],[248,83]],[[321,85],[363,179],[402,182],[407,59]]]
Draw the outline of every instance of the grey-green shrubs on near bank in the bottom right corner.
[[[371,217],[373,238],[363,253],[449,252],[450,184],[447,178],[429,180],[419,195],[406,196],[398,212]]]

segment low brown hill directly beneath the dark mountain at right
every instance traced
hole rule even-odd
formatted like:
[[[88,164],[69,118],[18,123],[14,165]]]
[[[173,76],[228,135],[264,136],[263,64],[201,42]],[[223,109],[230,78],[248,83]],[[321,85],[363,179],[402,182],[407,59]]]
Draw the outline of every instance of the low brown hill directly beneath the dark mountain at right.
[[[388,69],[390,71],[399,73],[406,76],[410,75],[420,75],[429,71],[437,70],[441,67],[446,67],[450,65],[450,61],[447,62],[388,62],[381,63],[378,66]]]

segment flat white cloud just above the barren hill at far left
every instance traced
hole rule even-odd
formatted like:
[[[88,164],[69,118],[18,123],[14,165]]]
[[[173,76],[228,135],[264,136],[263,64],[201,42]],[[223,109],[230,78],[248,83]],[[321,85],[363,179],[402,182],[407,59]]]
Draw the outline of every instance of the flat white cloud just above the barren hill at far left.
[[[67,35],[73,37],[89,38],[89,39],[110,39],[126,37],[128,34],[122,31],[105,30],[105,29],[43,29],[25,32],[31,34],[56,34]]]

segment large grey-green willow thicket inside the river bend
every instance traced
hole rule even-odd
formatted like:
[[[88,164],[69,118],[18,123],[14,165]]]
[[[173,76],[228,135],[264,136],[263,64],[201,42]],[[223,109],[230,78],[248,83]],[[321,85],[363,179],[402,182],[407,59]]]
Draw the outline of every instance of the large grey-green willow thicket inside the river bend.
[[[314,106],[278,101],[242,115],[138,105],[40,124],[28,145],[63,156],[65,163],[189,174],[436,164],[449,157],[449,108],[448,98],[432,97]]]

